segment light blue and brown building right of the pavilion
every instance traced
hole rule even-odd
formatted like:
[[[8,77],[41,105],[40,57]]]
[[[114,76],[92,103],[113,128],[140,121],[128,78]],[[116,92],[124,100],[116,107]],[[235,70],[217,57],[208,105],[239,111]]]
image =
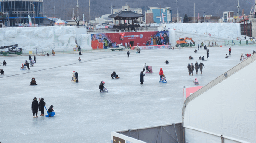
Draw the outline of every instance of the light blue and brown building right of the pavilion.
[[[149,9],[145,12],[145,23],[170,23],[172,22],[172,10],[170,7],[158,8],[148,7]],[[160,11],[161,10],[161,11]],[[163,15],[163,20],[160,21],[160,17]]]

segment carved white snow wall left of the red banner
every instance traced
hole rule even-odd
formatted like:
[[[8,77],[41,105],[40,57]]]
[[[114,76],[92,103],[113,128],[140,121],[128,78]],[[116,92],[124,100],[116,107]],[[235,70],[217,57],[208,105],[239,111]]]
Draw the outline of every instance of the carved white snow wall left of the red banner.
[[[91,49],[90,34],[86,34],[86,28],[73,26],[0,28],[0,46],[18,44],[18,47],[24,50],[41,48],[72,50],[76,47],[75,39],[78,35],[83,35],[78,37],[81,48]]]

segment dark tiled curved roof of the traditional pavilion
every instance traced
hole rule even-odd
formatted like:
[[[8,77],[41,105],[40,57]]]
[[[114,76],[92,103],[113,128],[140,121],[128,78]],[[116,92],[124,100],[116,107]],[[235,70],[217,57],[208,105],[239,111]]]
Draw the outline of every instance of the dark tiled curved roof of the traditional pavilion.
[[[139,17],[143,17],[143,14],[138,14],[132,11],[121,11],[116,14],[111,14],[109,15],[109,18],[114,18],[114,19],[136,19]]]

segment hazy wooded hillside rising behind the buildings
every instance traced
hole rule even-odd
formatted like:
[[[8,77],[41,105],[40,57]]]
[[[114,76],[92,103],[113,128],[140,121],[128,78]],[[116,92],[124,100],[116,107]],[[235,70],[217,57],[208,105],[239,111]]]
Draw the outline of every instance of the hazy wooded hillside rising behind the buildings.
[[[78,0],[79,3],[79,15],[84,14],[85,19],[89,20],[89,2],[88,0]],[[148,6],[152,7],[170,7],[172,10],[172,17],[176,17],[177,8],[176,0],[90,0],[91,20],[94,17],[100,17],[104,14],[111,14],[111,3],[115,8],[122,8],[122,5],[127,3],[131,7],[141,8],[143,11],[148,9]],[[178,11],[180,17],[184,17],[187,14],[189,17],[193,17],[193,5],[195,3],[195,16],[203,16],[204,14],[212,16],[223,16],[224,11],[234,11],[234,15],[237,15],[238,9],[237,0],[178,0]],[[251,7],[254,4],[254,0],[239,0],[239,11],[244,9],[245,14],[249,14]],[[54,6],[56,17],[63,20],[70,20],[67,16],[72,12],[72,8],[76,10],[76,0],[44,0],[44,15],[47,17],[54,17]],[[205,13],[204,13],[205,12]],[[239,15],[241,15],[240,13]]]

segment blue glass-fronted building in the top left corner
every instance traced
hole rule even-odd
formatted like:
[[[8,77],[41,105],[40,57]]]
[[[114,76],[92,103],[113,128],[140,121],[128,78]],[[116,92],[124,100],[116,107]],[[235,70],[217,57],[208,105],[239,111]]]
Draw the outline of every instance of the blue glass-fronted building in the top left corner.
[[[43,0],[1,0],[0,12],[6,14],[5,26],[22,26],[29,23],[32,26],[43,25]]]

